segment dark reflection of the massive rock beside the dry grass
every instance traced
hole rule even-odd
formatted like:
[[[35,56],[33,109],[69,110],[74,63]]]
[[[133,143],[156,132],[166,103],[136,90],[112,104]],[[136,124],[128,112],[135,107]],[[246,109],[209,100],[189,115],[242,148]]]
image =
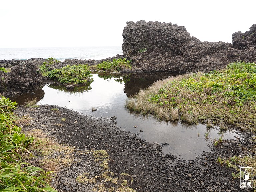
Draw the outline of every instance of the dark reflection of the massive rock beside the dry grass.
[[[145,89],[159,79],[167,78],[177,74],[171,73],[134,73],[130,75],[130,81],[124,83],[124,92],[130,97],[140,89]]]

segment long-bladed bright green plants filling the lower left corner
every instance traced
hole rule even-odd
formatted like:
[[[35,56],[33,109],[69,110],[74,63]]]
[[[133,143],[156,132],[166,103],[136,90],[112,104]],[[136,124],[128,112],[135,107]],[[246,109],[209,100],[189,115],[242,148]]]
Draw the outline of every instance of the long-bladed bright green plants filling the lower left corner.
[[[11,109],[16,102],[0,98],[0,191],[48,191],[56,192],[45,181],[50,172],[22,162],[21,154],[34,140],[20,133],[13,124]]]

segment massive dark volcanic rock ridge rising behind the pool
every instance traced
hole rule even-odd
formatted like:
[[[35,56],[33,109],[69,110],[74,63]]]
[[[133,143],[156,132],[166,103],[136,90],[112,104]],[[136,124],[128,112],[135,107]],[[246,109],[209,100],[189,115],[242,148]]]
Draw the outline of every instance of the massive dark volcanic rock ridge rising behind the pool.
[[[245,33],[245,37],[255,31],[253,25],[250,32]],[[239,35],[235,34],[235,39],[239,39]],[[190,36],[184,26],[177,24],[158,21],[127,22],[123,30],[122,48],[124,56],[133,61],[137,71],[209,71],[237,60],[255,62],[256,46],[253,35],[250,39],[244,38],[247,39],[246,48],[238,48],[239,46],[221,41],[201,42]],[[147,50],[139,52],[141,49]]]

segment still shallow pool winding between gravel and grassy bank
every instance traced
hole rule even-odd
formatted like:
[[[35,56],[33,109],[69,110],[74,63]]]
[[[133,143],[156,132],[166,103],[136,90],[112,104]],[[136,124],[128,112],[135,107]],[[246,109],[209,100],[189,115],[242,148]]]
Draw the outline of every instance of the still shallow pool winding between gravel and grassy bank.
[[[138,92],[139,89],[146,88],[154,81],[168,76],[172,76],[172,74],[141,73],[115,77],[94,74],[94,81],[90,86],[66,90],[65,87],[56,84],[47,84],[42,89],[37,90],[34,95],[27,93],[12,100],[23,105],[27,98],[38,97],[40,98],[38,104],[67,107],[83,113],[83,115],[116,116],[117,126],[125,131],[136,133],[148,142],[156,141],[160,144],[169,144],[162,148],[166,154],[194,160],[203,151],[211,151],[212,140],[215,138],[218,140],[220,137],[218,127],[207,131],[204,124],[188,126],[181,122],[159,121],[151,115],[142,116],[124,108],[125,100]],[[92,107],[97,108],[97,111],[92,112]],[[205,140],[206,132],[209,134],[208,140]],[[223,138],[233,139],[235,137],[240,137],[235,130],[227,130],[223,134]]]

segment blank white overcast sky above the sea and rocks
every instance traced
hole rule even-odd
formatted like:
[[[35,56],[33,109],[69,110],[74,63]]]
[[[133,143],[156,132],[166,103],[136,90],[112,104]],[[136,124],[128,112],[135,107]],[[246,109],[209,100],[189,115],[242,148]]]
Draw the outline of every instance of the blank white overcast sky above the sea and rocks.
[[[0,48],[121,46],[126,21],[177,23],[201,41],[232,42],[256,23],[256,0],[1,0]]]

